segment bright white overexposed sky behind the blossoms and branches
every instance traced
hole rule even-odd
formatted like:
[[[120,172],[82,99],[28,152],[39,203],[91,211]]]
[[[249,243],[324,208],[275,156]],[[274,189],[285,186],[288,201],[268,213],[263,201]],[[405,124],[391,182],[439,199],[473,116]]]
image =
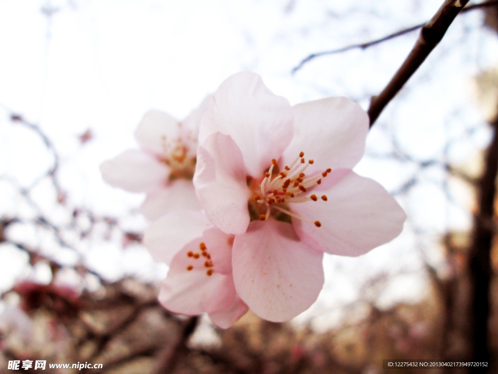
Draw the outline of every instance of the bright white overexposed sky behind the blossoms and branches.
[[[295,75],[292,67],[309,53],[368,41],[427,20],[441,2],[1,0],[0,173],[27,186],[50,164],[39,139],[10,125],[12,111],[39,124],[53,140],[61,156],[60,181],[74,205],[124,216],[142,196],[105,185],[98,167],[135,147],[133,130],[148,109],[181,119],[225,78],[244,69],[261,74],[274,93],[292,104],[344,95],[366,108],[417,33],[366,51],[321,57]],[[53,10],[52,15],[44,15],[42,8]],[[419,160],[444,161],[448,138],[458,139],[448,152],[458,163],[475,157],[487,144],[489,132],[473,102],[471,77],[497,65],[498,45],[481,23],[479,12],[457,19],[375,125],[369,153],[391,151],[382,129],[395,134],[400,147]],[[475,127],[478,130],[468,135]],[[87,129],[95,139],[82,146],[78,135]],[[413,163],[377,158],[367,158],[357,168],[389,190],[398,189],[416,170]],[[443,194],[445,177],[440,170],[429,168],[417,176],[422,183],[399,200],[410,219],[403,235],[360,259],[328,256],[326,288],[312,313],[354,300],[365,276],[420,268],[420,247],[426,248],[431,261],[440,262],[440,252],[427,246],[448,227],[468,226],[466,194],[456,192],[467,204],[459,208]],[[58,214],[45,197],[49,187],[40,186],[33,194],[50,214]],[[0,214],[29,211],[12,196],[11,187],[0,183]],[[128,221],[130,227],[144,225],[139,219]],[[426,235],[415,236],[416,229],[424,229]],[[22,230],[17,234],[30,235]],[[94,266],[105,263],[103,271],[110,277],[123,268],[132,272],[133,266],[150,267],[143,251],[130,250],[123,256],[116,243],[80,250]],[[25,272],[22,258],[14,253],[10,247],[0,248],[0,273],[7,285]],[[398,300],[423,294],[416,276],[386,287]]]

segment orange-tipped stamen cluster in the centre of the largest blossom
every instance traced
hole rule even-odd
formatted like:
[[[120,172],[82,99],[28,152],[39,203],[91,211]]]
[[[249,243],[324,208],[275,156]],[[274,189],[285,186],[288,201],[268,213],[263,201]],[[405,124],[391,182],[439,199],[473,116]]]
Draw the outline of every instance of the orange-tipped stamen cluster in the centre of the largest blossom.
[[[322,174],[306,177],[305,170],[314,162],[311,159],[306,162],[303,156],[304,152],[301,152],[299,157],[290,166],[286,165],[283,168],[282,172],[278,170],[277,161],[273,159],[259,186],[256,186],[256,184],[248,179],[249,187],[255,192],[252,201],[249,200],[249,212],[252,213],[251,218],[254,217],[255,212],[258,212],[258,219],[262,221],[268,219],[270,215],[274,216],[277,220],[288,221],[288,217],[281,217],[281,213],[284,213],[284,215],[289,217],[314,223],[317,227],[322,225],[320,221],[313,221],[302,217],[288,209],[288,203],[307,202],[310,200],[318,201],[319,197],[317,195],[305,196],[305,193],[312,187],[321,184],[322,178],[327,177],[328,173],[332,171],[331,169],[327,169]],[[327,196],[322,195],[320,199],[327,201]]]

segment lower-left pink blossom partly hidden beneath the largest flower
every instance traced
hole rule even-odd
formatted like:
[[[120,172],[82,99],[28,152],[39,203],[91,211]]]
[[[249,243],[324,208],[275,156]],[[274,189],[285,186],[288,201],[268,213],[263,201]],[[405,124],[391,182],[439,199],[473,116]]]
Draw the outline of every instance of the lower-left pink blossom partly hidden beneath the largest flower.
[[[208,313],[228,328],[248,311],[235,290],[232,274],[234,235],[209,223],[199,211],[179,211],[154,221],[144,244],[157,261],[169,265],[159,302],[174,313]]]

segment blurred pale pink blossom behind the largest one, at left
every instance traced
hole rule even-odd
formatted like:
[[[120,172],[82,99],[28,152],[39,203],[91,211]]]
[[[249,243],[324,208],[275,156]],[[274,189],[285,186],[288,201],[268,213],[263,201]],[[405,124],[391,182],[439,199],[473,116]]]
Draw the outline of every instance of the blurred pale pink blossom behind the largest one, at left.
[[[208,96],[179,122],[157,110],[147,112],[135,131],[140,149],[124,151],[101,165],[102,177],[114,187],[146,192],[142,213],[154,220],[178,209],[199,209],[192,185],[197,136]]]

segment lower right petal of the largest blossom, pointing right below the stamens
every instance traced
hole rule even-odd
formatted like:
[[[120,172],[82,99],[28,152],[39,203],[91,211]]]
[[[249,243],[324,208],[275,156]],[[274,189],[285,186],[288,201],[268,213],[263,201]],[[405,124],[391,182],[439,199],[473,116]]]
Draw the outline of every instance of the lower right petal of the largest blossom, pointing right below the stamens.
[[[331,180],[334,173],[344,174],[344,170],[332,171]],[[312,248],[359,256],[394,239],[403,229],[406,214],[396,200],[377,182],[353,171],[320,194],[327,201],[289,204],[293,212],[322,224],[316,227],[292,218],[297,235]]]

